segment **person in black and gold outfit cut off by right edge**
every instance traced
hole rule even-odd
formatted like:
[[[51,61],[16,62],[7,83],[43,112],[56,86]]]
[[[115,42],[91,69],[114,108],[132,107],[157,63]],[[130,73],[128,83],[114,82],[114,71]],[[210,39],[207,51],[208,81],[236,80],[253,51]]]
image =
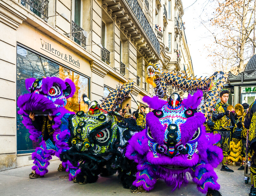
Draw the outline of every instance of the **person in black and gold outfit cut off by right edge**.
[[[248,141],[250,154],[252,155],[250,167],[252,187],[249,196],[256,196],[256,100],[249,107],[249,110],[245,115],[244,128],[249,129]]]

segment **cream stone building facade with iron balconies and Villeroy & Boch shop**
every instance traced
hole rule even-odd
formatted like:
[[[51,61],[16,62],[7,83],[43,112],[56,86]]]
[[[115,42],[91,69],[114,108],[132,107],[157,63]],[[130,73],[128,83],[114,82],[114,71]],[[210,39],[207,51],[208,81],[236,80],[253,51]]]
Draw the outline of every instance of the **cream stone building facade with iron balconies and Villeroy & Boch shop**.
[[[128,79],[144,105],[149,62],[194,74],[180,0],[0,0],[0,13],[0,171],[32,164],[38,145],[17,113],[26,78],[72,79],[66,107],[76,112],[86,110],[84,93],[100,101]],[[131,97],[126,104],[137,108]]]

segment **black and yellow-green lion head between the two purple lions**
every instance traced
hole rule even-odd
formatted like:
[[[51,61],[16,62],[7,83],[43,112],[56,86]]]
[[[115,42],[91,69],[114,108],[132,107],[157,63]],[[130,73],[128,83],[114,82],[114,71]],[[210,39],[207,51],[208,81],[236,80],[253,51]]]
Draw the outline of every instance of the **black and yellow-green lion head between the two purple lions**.
[[[117,124],[112,115],[90,102],[88,111],[79,111],[72,118],[71,142],[79,152],[102,154],[116,141]]]

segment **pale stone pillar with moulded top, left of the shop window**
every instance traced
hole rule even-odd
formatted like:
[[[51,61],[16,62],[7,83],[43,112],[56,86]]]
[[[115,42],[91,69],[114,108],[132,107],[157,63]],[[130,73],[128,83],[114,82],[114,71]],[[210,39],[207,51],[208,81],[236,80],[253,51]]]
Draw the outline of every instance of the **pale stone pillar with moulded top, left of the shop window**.
[[[26,16],[14,4],[0,0],[0,171],[17,167],[16,33]]]

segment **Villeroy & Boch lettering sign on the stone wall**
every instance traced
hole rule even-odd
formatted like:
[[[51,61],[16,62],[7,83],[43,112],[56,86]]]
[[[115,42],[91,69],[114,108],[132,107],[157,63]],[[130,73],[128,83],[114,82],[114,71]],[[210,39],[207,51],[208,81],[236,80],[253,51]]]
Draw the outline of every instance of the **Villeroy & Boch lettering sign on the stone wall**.
[[[65,62],[69,63],[72,66],[78,67],[80,68],[80,63],[78,59],[75,59],[74,57],[72,57],[71,55],[65,54],[59,50],[56,49],[56,47],[54,45],[52,45],[51,43],[45,42],[44,40],[41,40],[41,44],[42,47],[41,49],[52,54],[53,56],[64,60]]]

